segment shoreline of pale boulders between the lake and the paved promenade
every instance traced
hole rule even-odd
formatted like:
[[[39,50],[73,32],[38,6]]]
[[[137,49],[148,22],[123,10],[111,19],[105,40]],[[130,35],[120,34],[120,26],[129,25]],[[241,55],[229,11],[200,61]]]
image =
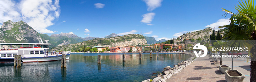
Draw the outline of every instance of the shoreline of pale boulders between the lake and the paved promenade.
[[[185,61],[182,61],[175,65],[174,67],[166,66],[162,72],[160,72],[156,78],[154,79],[147,79],[142,82],[166,82],[166,79],[169,79],[172,77],[173,74],[177,74],[181,72],[182,69],[190,65],[193,61],[195,61],[197,58],[195,54],[188,53],[188,52],[169,52],[169,53],[180,53],[180,54],[188,54],[190,58],[188,58]]]

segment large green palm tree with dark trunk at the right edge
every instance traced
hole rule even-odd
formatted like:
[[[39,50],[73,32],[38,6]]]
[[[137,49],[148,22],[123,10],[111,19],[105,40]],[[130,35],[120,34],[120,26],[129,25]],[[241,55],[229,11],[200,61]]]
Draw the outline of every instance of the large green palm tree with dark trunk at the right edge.
[[[239,2],[235,8],[238,13],[232,13],[226,9],[223,9],[226,13],[230,13],[232,16],[229,19],[230,24],[219,26],[219,28],[225,28],[225,35],[222,38],[227,40],[256,40],[256,9],[254,0],[248,0]],[[251,48],[251,78],[250,82],[256,82],[256,45],[250,44]]]

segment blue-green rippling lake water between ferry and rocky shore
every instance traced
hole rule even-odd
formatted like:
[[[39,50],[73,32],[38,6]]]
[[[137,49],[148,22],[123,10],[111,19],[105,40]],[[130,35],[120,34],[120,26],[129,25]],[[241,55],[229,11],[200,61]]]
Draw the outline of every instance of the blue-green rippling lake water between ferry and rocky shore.
[[[177,65],[187,60],[185,54],[125,53],[71,53],[67,67],[61,68],[61,61],[22,63],[14,67],[13,63],[0,64],[0,82],[40,81],[40,82],[141,82],[154,79],[166,66]],[[101,55],[101,64],[97,63],[97,55]],[[157,74],[154,74],[157,73]]]

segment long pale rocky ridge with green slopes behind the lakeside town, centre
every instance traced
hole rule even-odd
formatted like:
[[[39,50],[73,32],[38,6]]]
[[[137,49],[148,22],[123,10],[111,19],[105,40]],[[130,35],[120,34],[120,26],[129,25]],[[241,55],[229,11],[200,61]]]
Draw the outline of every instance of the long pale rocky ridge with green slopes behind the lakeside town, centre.
[[[70,49],[78,49],[83,46],[89,47],[89,46],[104,46],[104,47],[110,47],[110,46],[128,46],[128,45],[138,45],[138,44],[146,44],[147,41],[143,37],[143,35],[140,34],[128,34],[124,36],[118,36],[118,37],[111,37],[111,38],[95,38],[93,40],[83,41],[76,44],[69,44],[69,45],[63,45],[58,46],[55,48],[52,48],[52,50],[70,50]]]

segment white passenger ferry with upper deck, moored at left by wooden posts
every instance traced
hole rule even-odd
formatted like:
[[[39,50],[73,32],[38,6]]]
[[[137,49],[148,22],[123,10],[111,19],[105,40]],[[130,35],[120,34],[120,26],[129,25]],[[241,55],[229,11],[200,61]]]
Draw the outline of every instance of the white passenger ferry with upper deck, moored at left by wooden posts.
[[[49,45],[51,44],[48,41],[42,40],[39,43],[0,43],[0,63],[14,62],[15,55],[21,55],[23,63],[61,60],[62,54],[66,54],[66,58],[69,59],[70,51],[46,53]]]

